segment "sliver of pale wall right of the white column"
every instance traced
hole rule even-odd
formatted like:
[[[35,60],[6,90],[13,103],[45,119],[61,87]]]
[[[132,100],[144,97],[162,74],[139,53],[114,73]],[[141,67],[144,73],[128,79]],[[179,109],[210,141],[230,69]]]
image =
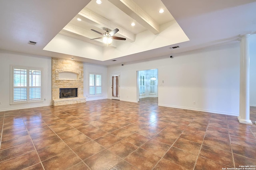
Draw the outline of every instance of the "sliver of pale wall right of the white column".
[[[250,35],[250,106],[256,106],[256,34]]]

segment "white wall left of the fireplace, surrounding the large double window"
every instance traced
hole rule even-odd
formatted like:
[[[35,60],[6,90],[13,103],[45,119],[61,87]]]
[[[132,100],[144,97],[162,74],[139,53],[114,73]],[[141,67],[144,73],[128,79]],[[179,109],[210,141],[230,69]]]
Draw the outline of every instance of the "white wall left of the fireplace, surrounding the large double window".
[[[10,105],[10,65],[34,66],[43,68],[42,98],[44,102]],[[52,59],[0,50],[0,111],[52,105]]]

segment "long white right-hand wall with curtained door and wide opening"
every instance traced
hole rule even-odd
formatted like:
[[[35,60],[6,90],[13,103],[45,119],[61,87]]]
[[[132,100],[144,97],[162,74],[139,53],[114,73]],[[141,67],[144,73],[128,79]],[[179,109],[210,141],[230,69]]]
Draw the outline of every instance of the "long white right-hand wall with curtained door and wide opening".
[[[137,102],[136,71],[158,68],[159,106],[239,115],[239,43],[173,56],[108,66],[108,98],[112,72],[121,75],[120,100]]]

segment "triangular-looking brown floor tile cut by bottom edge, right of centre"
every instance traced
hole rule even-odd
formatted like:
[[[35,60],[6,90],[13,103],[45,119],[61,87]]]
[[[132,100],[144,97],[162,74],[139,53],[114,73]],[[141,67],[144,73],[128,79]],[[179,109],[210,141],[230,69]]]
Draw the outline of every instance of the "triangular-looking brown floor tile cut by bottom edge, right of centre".
[[[153,170],[187,170],[187,169],[162,158],[158,162],[158,164],[156,164]]]

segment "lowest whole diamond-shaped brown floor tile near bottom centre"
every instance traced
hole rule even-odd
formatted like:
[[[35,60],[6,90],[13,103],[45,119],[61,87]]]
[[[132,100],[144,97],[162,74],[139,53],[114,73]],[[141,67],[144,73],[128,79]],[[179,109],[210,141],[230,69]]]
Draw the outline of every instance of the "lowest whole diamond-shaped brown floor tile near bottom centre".
[[[126,141],[120,141],[111,147],[108,148],[111,152],[114,154],[120,156],[121,158],[125,158],[130,153],[132,153],[134,150],[136,150],[138,147],[136,145],[133,145]]]

